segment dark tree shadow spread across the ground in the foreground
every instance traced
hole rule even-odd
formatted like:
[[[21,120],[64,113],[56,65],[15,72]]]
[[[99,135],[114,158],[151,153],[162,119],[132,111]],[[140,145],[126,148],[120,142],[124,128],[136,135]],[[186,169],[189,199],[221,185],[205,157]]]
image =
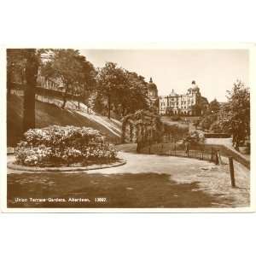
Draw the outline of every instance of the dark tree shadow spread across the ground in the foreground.
[[[15,202],[15,198],[64,198],[66,202]],[[69,202],[68,198],[90,202]],[[96,202],[96,198],[106,198]],[[197,183],[178,184],[157,173],[22,173],[8,177],[8,207],[212,207],[218,198]]]

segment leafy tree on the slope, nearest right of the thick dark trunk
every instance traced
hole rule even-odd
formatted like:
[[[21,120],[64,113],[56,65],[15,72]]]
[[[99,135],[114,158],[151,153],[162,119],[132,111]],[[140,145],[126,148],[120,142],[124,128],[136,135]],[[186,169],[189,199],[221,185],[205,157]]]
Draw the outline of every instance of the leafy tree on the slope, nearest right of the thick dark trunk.
[[[65,108],[68,94],[84,99],[86,90],[90,90],[95,83],[96,71],[93,65],[79,54],[79,50],[51,49],[49,52],[49,61],[44,63],[42,74],[46,79],[55,79],[62,84],[62,108]]]

